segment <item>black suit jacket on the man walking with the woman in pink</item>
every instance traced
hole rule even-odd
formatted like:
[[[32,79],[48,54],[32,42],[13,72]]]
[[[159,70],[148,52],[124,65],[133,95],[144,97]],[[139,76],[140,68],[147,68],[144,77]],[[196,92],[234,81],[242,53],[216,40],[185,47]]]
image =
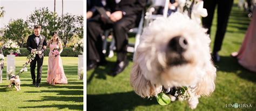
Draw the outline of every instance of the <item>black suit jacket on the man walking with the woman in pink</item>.
[[[40,40],[39,40],[39,44],[37,45],[36,43],[36,35],[35,34],[31,34],[28,37],[28,40],[26,41],[26,49],[29,50],[29,52],[31,52],[32,49],[37,49],[37,51],[42,51],[42,54],[38,55],[39,58],[42,58],[44,56],[44,48],[43,46],[47,46],[45,37],[43,35],[40,35]]]

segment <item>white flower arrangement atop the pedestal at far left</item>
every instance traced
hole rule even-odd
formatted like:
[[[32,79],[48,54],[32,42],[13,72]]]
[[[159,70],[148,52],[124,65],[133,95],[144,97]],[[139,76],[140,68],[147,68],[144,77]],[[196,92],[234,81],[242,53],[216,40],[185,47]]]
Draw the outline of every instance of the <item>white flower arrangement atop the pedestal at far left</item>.
[[[4,45],[3,45],[3,49],[7,50],[10,54],[14,54],[17,56],[18,53],[21,53],[19,51],[19,46],[18,43],[16,43],[15,41],[12,40],[8,40]]]

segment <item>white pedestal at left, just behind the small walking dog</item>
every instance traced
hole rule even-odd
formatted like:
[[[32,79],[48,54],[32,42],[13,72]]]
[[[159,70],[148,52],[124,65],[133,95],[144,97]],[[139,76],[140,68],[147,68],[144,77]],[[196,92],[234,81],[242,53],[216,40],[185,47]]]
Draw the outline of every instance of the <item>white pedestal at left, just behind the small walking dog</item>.
[[[10,79],[10,72],[15,75],[15,55],[7,55],[6,80]]]

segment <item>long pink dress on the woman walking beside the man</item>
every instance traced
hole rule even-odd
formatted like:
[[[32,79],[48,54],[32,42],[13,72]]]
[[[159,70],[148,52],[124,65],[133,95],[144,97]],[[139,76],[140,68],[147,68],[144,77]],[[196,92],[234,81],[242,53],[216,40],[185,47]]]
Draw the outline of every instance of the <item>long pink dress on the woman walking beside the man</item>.
[[[53,56],[51,51],[54,48],[59,48],[57,44],[50,44],[50,52],[49,52],[49,60],[48,60],[48,74],[47,74],[47,82],[49,84],[68,84],[68,79],[66,79],[62,59],[60,56]]]

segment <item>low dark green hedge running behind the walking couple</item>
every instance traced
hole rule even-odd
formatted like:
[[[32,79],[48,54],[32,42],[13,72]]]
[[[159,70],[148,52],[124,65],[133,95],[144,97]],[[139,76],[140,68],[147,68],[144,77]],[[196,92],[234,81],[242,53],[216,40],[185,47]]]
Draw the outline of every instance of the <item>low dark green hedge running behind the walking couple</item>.
[[[27,50],[26,48],[20,48],[19,50],[21,51],[21,54],[18,54],[18,56],[26,57],[26,56],[29,55],[29,50]],[[44,51],[44,56],[45,57],[49,55],[49,50],[50,49],[47,48],[46,51]],[[6,57],[6,54],[8,54],[7,51],[5,51],[5,50],[3,50],[3,53],[4,53],[5,57]],[[62,56],[62,57],[78,57],[78,55],[80,55],[80,54],[81,53],[79,53],[79,52],[74,52],[72,50],[72,48],[63,48],[63,51],[60,54],[60,56]]]

